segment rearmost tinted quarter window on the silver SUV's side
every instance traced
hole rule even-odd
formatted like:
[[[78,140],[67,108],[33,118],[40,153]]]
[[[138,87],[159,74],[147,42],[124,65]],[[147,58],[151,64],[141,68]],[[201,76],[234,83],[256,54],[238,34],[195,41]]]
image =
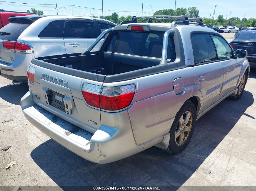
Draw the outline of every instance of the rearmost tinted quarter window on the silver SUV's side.
[[[38,35],[39,38],[62,38],[64,30],[64,20],[50,22]]]

